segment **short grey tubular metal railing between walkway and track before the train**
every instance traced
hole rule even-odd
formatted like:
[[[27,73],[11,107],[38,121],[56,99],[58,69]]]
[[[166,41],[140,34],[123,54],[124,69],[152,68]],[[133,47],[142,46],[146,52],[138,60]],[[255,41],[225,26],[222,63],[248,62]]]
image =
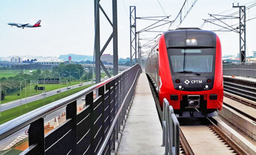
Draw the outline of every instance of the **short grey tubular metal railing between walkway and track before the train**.
[[[164,98],[163,109],[163,144],[165,155],[179,155],[180,124],[173,113],[173,107]]]

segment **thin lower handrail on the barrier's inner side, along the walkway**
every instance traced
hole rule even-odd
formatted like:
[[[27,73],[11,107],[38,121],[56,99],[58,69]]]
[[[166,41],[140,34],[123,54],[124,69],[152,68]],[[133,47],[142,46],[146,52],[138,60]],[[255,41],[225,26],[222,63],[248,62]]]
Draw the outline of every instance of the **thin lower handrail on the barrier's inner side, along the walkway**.
[[[101,155],[101,154],[103,153],[104,148],[106,147],[106,145],[107,145],[107,143],[108,143],[108,140],[109,140],[109,138],[110,138],[110,135],[111,135],[111,133],[112,133],[114,127],[115,127],[115,124],[116,124],[116,122],[117,122],[117,119],[118,119],[118,117],[119,117],[121,111],[123,110],[124,103],[125,103],[125,101],[126,101],[128,95],[130,94],[130,91],[132,90],[133,85],[135,84],[135,82],[136,82],[136,80],[137,80],[137,75],[138,75],[138,73],[139,73],[140,70],[141,70],[141,69],[138,69],[138,71],[137,71],[137,73],[136,73],[136,76],[135,76],[135,78],[134,78],[134,80],[133,80],[132,86],[130,87],[129,91],[128,91],[127,94],[125,95],[124,100],[123,100],[123,102],[122,102],[122,104],[121,104],[121,107],[119,108],[118,113],[115,115],[115,118],[114,118],[114,120],[113,120],[113,122],[112,122],[112,124],[111,124],[111,126],[110,126],[110,129],[109,129],[109,131],[108,131],[108,133],[107,133],[107,135],[106,135],[106,137],[105,137],[105,139],[104,139],[104,141],[103,141],[103,143],[102,143],[102,145],[101,145],[101,148],[99,149],[97,155]]]

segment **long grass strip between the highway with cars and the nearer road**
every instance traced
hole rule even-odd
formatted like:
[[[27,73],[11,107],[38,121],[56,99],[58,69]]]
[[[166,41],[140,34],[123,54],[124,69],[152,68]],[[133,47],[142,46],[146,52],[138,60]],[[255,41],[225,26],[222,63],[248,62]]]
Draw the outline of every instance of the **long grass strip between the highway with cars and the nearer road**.
[[[86,86],[81,86],[79,88],[75,88],[75,89],[71,89],[70,91],[67,92],[62,92],[61,93],[61,98],[67,97],[68,95],[74,94],[78,91],[81,91],[89,86],[92,86],[92,84],[90,85],[86,85]],[[25,107],[26,105],[21,105],[15,108],[11,108],[8,110],[3,111],[1,114],[2,116],[0,117],[0,124],[7,122],[13,118],[16,118],[22,114],[28,113],[36,108],[42,107],[46,104],[52,103],[56,100],[60,100],[60,95],[56,94],[56,95],[52,95],[49,97],[46,97],[45,99],[41,99],[41,100],[36,100],[34,102],[30,102],[27,104],[27,108]]]

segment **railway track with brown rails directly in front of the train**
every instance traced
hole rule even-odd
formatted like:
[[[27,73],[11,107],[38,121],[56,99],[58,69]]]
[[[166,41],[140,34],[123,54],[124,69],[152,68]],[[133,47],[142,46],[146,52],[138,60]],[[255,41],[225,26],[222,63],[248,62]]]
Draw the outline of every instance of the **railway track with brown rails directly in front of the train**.
[[[206,119],[200,120],[201,125],[181,125],[180,154],[248,154],[214,123],[214,118]]]

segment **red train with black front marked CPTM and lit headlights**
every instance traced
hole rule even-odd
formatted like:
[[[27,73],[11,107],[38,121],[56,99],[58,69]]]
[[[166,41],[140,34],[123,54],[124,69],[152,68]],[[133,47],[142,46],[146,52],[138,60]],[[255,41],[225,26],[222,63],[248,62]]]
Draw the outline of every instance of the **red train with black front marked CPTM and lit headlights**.
[[[146,73],[163,108],[166,98],[178,117],[217,116],[223,103],[219,37],[198,28],[163,33],[147,58]]]

